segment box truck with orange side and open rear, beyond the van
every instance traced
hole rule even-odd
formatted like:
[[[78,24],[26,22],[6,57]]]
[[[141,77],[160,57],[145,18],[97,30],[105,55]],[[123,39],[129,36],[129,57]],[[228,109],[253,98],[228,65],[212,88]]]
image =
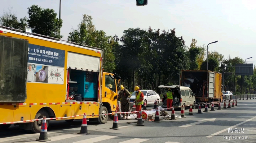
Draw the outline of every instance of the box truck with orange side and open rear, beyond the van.
[[[221,81],[221,73],[219,72],[209,70],[180,71],[180,86],[189,87],[195,93],[196,104],[222,102]]]

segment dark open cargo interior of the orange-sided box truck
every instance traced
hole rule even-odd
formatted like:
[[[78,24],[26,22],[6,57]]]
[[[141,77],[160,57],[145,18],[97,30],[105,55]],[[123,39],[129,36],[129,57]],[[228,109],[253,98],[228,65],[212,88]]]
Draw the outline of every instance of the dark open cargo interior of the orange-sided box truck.
[[[197,97],[206,97],[207,74],[207,72],[182,72],[181,85],[189,87]]]

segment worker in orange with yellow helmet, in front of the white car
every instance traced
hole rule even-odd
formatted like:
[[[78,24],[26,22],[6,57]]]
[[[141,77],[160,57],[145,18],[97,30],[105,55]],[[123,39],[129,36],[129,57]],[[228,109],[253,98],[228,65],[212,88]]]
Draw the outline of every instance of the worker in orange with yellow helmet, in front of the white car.
[[[143,92],[140,91],[140,87],[135,86],[134,87],[134,91],[136,91],[135,93],[135,110],[136,111],[140,111],[141,110],[141,105],[143,105],[144,102],[144,94]],[[136,112],[137,117],[135,119],[138,119],[139,113]]]

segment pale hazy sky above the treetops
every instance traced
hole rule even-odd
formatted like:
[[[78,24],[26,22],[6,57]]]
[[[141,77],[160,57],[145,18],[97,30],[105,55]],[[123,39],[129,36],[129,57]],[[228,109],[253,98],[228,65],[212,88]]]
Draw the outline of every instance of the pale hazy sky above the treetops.
[[[18,18],[28,17],[27,8],[33,4],[54,9],[59,17],[59,0],[1,0],[0,15],[12,7]],[[96,29],[107,36],[122,37],[128,28],[175,28],[186,46],[192,38],[197,46],[218,41],[208,51],[218,51],[225,59],[252,57],[246,63],[256,63],[256,0],[148,0],[146,6],[136,6],[136,0],[62,0],[62,40],[77,28],[83,14],[91,15]]]

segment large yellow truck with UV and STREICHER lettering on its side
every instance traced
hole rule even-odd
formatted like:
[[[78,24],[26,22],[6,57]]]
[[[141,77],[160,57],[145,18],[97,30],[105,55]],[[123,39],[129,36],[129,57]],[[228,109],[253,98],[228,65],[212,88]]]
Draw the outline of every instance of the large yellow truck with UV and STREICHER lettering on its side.
[[[0,26],[0,123],[86,113],[105,124],[97,115],[115,112],[120,77],[103,72],[103,50],[63,41]],[[40,133],[41,120],[19,128]]]

